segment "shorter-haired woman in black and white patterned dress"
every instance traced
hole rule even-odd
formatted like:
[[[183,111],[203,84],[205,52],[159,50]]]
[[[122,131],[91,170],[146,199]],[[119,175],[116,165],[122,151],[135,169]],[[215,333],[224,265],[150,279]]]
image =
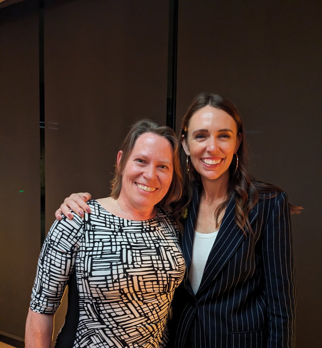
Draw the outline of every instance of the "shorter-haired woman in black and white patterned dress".
[[[26,348],[51,346],[53,314],[67,283],[68,310],[56,348],[164,344],[173,293],[185,271],[169,213],[182,190],[176,148],[171,128],[137,121],[117,154],[111,197],[88,202],[92,213],[84,219],[63,216],[52,225],[38,261]]]

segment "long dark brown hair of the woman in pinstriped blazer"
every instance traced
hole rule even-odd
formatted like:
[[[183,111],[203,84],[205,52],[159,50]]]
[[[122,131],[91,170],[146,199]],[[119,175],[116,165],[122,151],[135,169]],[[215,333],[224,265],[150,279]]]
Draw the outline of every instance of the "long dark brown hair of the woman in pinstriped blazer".
[[[245,132],[243,130],[240,114],[236,106],[231,101],[222,97],[221,95],[203,92],[198,94],[193,99],[187,112],[182,118],[179,139],[181,140],[182,137],[187,136],[189,121],[193,114],[207,105],[227,112],[235,120],[237,124],[237,134],[240,133],[242,135],[241,143],[237,150],[238,167],[236,172],[234,173],[236,168],[236,156],[233,157],[232,163],[229,167],[230,176],[227,188],[228,199],[224,201],[222,204],[220,204],[214,212],[215,221],[218,225],[218,218],[220,216],[220,213],[226,208],[230,198],[234,197],[236,201],[235,221],[238,227],[240,227],[242,231],[246,233],[247,230],[251,231],[248,220],[248,214],[250,210],[256,205],[258,199],[264,196],[274,197],[278,195],[282,191],[282,189],[278,186],[257,180],[251,176],[248,169]],[[186,168],[187,155],[185,154],[182,146],[179,147],[178,152],[181,167]],[[184,196],[183,199],[180,201],[180,204],[176,207],[176,209],[182,209],[182,207],[187,206],[192,200],[193,187],[195,187],[196,184],[202,185],[200,174],[195,170],[195,168],[193,168],[190,162],[190,157],[188,157],[188,161],[188,165],[190,168],[189,175],[185,170],[182,171]],[[267,193],[269,193],[269,195],[267,195]],[[302,209],[302,207],[297,207],[291,204],[289,204],[289,208],[291,213],[299,213],[300,209]]]

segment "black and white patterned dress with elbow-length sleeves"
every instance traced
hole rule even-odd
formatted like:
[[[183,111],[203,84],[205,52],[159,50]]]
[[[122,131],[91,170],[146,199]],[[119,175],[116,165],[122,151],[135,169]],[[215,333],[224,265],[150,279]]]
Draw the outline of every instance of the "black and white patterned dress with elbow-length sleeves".
[[[42,246],[30,307],[53,314],[68,283],[55,347],[156,348],[184,276],[170,215],[125,220],[89,202],[91,214],[56,221]]]

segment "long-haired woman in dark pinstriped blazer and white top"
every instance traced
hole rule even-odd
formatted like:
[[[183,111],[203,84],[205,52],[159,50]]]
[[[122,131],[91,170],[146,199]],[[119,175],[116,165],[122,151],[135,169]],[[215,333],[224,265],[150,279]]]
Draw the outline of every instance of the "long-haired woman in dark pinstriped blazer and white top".
[[[240,115],[226,98],[197,95],[179,139],[184,185],[174,214],[182,216],[187,272],[173,300],[169,347],[294,347],[290,212],[300,207],[250,175]],[[66,203],[86,208],[87,195],[66,199],[56,217]]]

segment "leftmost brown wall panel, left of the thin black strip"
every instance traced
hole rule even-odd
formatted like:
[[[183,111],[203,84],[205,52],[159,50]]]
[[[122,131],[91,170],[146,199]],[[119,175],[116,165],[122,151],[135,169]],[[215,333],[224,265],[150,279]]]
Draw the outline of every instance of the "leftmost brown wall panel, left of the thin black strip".
[[[0,15],[0,334],[24,337],[40,250],[38,10]]]

